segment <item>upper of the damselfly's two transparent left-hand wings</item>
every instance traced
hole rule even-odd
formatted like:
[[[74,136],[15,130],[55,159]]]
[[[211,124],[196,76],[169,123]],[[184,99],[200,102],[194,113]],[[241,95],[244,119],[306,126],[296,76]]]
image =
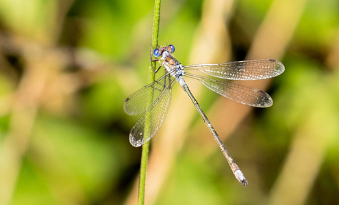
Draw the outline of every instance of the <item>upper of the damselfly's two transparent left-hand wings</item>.
[[[145,112],[172,81],[173,77],[171,77],[171,74],[164,74],[157,81],[142,87],[128,96],[123,104],[125,113],[138,115]]]

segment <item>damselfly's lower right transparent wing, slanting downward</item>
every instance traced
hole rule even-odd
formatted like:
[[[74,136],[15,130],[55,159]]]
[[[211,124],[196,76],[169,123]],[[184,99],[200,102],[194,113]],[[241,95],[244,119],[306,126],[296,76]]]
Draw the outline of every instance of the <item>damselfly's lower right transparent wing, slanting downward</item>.
[[[199,80],[203,85],[217,94],[221,94],[222,96],[240,102],[241,104],[253,107],[271,107],[273,105],[271,96],[262,90],[227,81],[216,81],[214,79],[188,73],[186,75]]]

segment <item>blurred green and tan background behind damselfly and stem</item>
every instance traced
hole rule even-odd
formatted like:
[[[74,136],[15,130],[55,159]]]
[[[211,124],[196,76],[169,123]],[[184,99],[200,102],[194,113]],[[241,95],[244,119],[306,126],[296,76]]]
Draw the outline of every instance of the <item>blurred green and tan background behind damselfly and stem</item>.
[[[147,84],[152,19],[153,1],[0,0],[0,204],[136,204],[140,116],[123,101]],[[246,188],[175,86],[146,204],[339,202],[338,0],[164,0],[159,44],[184,65],[271,58],[286,71],[242,82],[271,94],[267,109],[188,81]]]

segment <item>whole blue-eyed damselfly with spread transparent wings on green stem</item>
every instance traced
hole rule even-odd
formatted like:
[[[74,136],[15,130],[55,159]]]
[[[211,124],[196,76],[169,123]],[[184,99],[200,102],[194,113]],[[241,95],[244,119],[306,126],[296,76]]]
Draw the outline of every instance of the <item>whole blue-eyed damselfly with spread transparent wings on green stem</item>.
[[[210,120],[208,120],[192,92],[190,92],[184,77],[198,80],[203,83],[205,87],[208,87],[217,94],[240,102],[243,105],[271,107],[273,105],[273,100],[266,92],[253,87],[232,83],[230,80],[249,81],[276,77],[284,72],[284,64],[274,59],[251,59],[231,61],[224,64],[196,64],[183,66],[172,55],[174,51],[175,47],[171,44],[168,46],[158,46],[158,48],[153,50],[155,59],[151,57],[151,61],[158,61],[160,63],[160,67],[156,70],[153,69],[153,72],[158,72],[158,70],[163,67],[165,74],[157,81],[142,87],[140,90],[128,96],[124,102],[123,108],[127,114],[142,114],[138,122],[131,128],[129,142],[135,147],[142,146],[158,132],[166,118],[171,104],[172,87],[178,82],[181,88],[188,94],[190,100],[192,100],[194,107],[201,115],[201,118],[203,118],[203,121],[210,130],[210,133],[212,133],[216,143],[218,143],[234,176],[246,187],[248,182],[244,177],[244,174],[242,174],[240,168],[227,151],[223,141],[221,141],[218,136],[218,133],[216,133]],[[228,81],[219,81],[214,78],[190,73],[193,71],[203,72],[212,77],[227,79]]]

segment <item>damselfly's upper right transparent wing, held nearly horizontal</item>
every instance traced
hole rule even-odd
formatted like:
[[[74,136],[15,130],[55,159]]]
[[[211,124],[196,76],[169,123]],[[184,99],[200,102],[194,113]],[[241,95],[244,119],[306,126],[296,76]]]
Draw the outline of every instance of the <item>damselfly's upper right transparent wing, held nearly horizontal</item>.
[[[259,80],[276,77],[284,72],[285,67],[280,61],[273,59],[254,59],[233,61],[225,64],[198,64],[184,66],[186,70],[200,70],[213,77],[229,80]]]

